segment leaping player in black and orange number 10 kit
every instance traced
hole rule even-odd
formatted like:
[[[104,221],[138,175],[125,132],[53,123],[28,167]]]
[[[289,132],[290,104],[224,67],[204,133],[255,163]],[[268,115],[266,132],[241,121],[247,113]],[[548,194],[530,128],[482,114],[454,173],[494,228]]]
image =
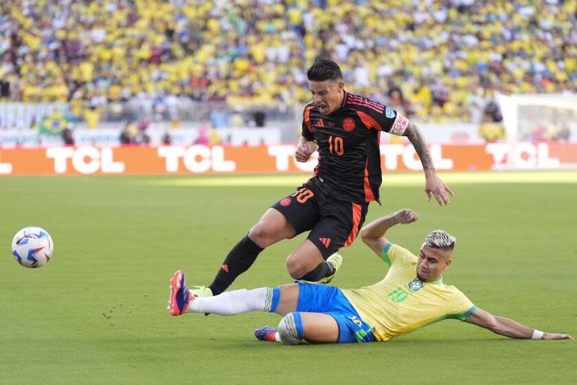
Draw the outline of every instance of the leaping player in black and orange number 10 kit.
[[[453,192],[435,173],[419,129],[381,103],[349,94],[334,61],[317,58],[307,72],[313,100],[303,113],[302,136],[295,151],[306,162],[319,151],[315,173],[297,191],[275,203],[249,234],[229,252],[209,287],[192,287],[195,296],[216,296],[247,271],[264,248],[310,230],[286,260],[295,279],[328,283],[342,262],[336,252],[350,245],[381,186],[381,132],[406,136],[425,170],[425,192],[440,206]]]

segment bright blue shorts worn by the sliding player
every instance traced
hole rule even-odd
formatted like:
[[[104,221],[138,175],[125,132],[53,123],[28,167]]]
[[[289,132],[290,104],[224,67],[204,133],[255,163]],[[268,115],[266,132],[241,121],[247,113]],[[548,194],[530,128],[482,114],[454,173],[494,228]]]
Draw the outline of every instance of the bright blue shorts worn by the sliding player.
[[[299,284],[299,302],[296,311],[324,313],[335,318],[339,325],[339,344],[346,342],[372,342],[374,334],[357,310],[352,307],[341,289],[334,286],[319,285],[297,281]]]

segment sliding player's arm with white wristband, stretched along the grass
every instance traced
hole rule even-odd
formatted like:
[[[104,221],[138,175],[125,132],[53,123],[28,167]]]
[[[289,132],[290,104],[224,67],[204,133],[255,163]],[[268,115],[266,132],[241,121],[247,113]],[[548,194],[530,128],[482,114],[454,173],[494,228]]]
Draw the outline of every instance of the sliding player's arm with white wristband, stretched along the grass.
[[[542,331],[531,329],[521,325],[519,322],[510,320],[509,318],[493,316],[488,311],[483,309],[475,309],[473,313],[469,314],[465,319],[466,322],[485,329],[493,331],[493,333],[510,338],[525,338],[534,340],[573,340],[569,334],[562,333],[543,333]]]

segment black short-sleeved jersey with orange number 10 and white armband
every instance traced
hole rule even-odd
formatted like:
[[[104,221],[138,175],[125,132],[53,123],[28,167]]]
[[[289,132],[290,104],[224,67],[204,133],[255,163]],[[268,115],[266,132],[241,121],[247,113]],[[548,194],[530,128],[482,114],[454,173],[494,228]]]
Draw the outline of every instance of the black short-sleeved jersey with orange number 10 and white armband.
[[[381,131],[403,135],[409,120],[393,109],[343,91],[341,107],[323,115],[313,102],[304,108],[302,135],[319,145],[315,176],[337,199],[378,201]]]

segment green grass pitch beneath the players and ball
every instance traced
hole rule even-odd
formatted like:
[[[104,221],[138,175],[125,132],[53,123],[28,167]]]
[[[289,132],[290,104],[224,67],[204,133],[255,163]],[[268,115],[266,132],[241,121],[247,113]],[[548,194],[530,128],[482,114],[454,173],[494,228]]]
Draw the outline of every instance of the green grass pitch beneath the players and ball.
[[[307,175],[0,178],[0,384],[575,384],[577,341],[510,340],[455,320],[372,344],[287,347],[253,330],[275,314],[173,318],[177,269],[207,285],[229,249]],[[475,305],[577,337],[577,173],[442,175],[448,208],[420,174],[384,174],[383,206],[421,219],[389,230],[413,252],[431,230],[457,236],[444,281]],[[37,225],[54,257],[29,270],[10,254]],[[265,250],[232,289],[288,283],[304,239]],[[360,240],[332,281],[369,285],[386,265]]]

